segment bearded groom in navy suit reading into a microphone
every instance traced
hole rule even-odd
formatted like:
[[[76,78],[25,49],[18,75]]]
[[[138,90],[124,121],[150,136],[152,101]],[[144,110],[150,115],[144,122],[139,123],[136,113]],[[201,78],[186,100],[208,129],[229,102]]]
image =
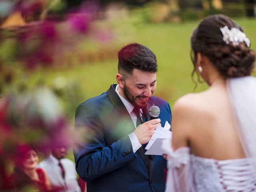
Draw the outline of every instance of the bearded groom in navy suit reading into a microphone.
[[[166,160],[144,154],[156,127],[171,120],[169,104],[152,96],[157,67],[149,48],[128,44],[118,52],[118,84],[77,107],[73,150],[88,192],[165,190]],[[160,108],[155,120],[152,105]]]

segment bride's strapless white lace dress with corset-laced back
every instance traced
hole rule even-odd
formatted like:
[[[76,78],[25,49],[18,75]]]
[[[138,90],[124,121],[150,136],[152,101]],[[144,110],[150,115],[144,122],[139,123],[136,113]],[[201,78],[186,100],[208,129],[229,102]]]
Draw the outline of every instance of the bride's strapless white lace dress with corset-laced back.
[[[256,192],[248,158],[202,158],[190,154],[188,147],[175,152],[169,147],[168,153],[166,192]]]

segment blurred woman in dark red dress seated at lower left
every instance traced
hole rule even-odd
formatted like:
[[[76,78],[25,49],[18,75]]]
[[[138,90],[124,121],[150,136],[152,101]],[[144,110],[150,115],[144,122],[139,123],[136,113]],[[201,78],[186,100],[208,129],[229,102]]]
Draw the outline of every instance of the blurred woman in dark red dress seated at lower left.
[[[10,176],[13,188],[23,191],[24,188],[37,189],[40,192],[50,191],[50,182],[44,170],[37,168],[38,156],[28,145],[18,147],[14,172]]]

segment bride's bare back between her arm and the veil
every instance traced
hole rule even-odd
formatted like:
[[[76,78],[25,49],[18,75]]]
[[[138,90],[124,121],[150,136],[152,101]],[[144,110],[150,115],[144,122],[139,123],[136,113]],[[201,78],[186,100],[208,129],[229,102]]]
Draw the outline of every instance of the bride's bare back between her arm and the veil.
[[[188,133],[191,152],[217,160],[244,158],[224,82],[184,97],[194,122]]]

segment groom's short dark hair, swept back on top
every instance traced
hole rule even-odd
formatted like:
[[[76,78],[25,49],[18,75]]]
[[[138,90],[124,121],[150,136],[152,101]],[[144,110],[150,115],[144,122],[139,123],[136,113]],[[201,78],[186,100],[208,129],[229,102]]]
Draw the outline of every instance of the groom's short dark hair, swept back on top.
[[[155,73],[158,70],[156,55],[144,45],[132,43],[118,52],[118,72],[131,74],[133,69]]]

